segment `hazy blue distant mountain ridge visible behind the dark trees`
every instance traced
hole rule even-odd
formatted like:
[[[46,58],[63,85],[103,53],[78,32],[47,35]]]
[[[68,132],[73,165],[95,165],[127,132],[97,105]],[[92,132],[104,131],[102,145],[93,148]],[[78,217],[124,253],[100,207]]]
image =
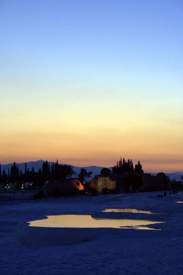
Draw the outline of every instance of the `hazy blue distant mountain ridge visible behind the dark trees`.
[[[45,160],[39,159],[37,161],[28,161],[26,162],[26,167],[31,170],[32,167],[34,168],[35,172],[38,171],[39,168],[42,168],[42,162]],[[51,165],[53,161],[48,161],[48,163]],[[25,162],[21,163],[16,163],[19,167],[19,170],[21,169],[22,172],[24,172],[24,167],[25,167]],[[66,163],[60,163],[60,164],[66,164]],[[8,172],[8,168],[10,169],[12,163],[7,163],[7,164],[1,164],[1,171],[5,169],[5,172]],[[93,177],[95,174],[99,174],[100,170],[103,168],[102,166],[73,166],[71,164],[67,164],[73,167],[73,170],[76,172],[76,174],[79,174],[80,168],[85,168],[87,172],[92,171],[91,177]],[[108,167],[109,169],[112,169],[112,167]],[[156,175],[157,173],[151,173],[151,175]],[[177,171],[177,172],[172,172],[172,173],[165,173],[167,176],[169,176],[170,179],[175,179],[175,180],[181,180],[180,176],[183,175],[183,171]]]

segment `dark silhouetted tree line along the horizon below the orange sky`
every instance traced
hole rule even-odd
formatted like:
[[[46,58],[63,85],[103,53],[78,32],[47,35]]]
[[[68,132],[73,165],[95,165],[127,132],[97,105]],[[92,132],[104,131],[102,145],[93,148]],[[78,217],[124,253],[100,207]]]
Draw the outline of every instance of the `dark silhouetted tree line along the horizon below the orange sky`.
[[[58,160],[51,165],[47,160],[44,161],[38,171],[34,171],[33,167],[29,170],[26,163],[22,171],[18,164],[13,162],[8,172],[5,169],[1,171],[0,166],[0,183],[14,183],[18,188],[22,182],[31,182],[32,187],[40,187],[48,180],[68,179],[74,176],[78,177],[83,185],[89,186],[88,178],[91,174],[92,171],[87,172],[84,168],[80,168],[79,174],[76,174],[71,165],[59,164]],[[115,180],[117,192],[165,190],[170,183],[164,173],[157,173],[156,176],[144,173],[139,160],[134,165],[132,159],[126,160],[121,157],[112,169],[102,168],[99,176],[108,176]]]

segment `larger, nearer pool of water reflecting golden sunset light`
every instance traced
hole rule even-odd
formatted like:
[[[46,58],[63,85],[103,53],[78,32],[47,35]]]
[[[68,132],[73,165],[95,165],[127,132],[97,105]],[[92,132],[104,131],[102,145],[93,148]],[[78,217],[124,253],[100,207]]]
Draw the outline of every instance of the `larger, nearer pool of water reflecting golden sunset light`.
[[[46,219],[29,221],[29,226],[38,227],[74,227],[74,228],[134,228],[151,229],[142,225],[163,223],[162,221],[143,219],[100,219],[90,215],[51,215]]]

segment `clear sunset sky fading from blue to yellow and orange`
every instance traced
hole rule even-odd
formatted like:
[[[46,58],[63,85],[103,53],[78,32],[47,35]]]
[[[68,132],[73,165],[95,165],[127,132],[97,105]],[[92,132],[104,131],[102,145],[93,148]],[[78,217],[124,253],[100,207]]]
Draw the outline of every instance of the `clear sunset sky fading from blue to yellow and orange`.
[[[0,0],[0,162],[183,170],[182,0]]]

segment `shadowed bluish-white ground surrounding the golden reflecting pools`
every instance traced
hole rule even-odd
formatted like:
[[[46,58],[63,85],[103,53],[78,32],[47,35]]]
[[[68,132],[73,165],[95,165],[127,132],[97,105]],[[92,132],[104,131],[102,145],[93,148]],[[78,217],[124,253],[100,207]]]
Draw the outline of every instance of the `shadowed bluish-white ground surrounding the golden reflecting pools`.
[[[0,274],[183,274],[183,204],[176,203],[183,201],[183,193],[155,196],[136,193],[0,201]],[[76,242],[72,244],[52,243],[51,239],[34,242],[31,234],[27,242],[19,236],[25,222],[45,215],[97,216],[105,208],[149,210],[158,214],[121,213],[121,217],[166,222],[150,226],[161,230],[90,228],[91,238],[81,242],[77,237],[83,228],[77,228],[75,235],[72,232]],[[67,235],[68,230],[62,234]]]

